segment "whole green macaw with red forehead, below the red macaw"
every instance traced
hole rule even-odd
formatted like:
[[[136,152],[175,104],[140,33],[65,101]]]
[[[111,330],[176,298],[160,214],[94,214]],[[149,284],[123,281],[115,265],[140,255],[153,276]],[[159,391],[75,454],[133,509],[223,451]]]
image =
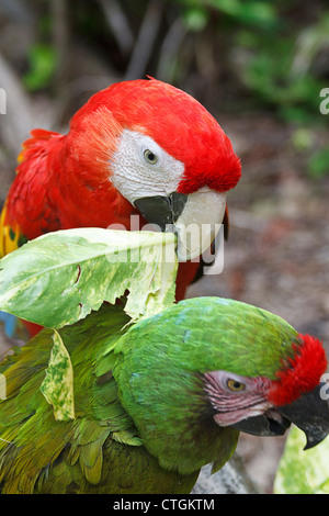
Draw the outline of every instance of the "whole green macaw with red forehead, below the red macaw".
[[[75,418],[56,420],[39,390],[53,332],[0,364],[2,493],[189,493],[220,469],[239,430],[307,447],[329,433],[319,340],[282,318],[219,298],[182,301],[129,325],[122,306],[59,330],[70,355]]]

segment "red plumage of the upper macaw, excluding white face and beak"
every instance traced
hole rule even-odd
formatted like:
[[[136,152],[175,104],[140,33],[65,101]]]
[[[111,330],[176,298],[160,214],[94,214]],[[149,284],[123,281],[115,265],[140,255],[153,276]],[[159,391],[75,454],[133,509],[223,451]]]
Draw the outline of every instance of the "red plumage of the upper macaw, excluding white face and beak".
[[[195,99],[155,79],[118,82],[91,97],[72,116],[67,135],[32,131],[2,225],[19,227],[26,239],[72,227],[123,224],[131,229],[131,215],[138,212],[109,180],[111,156],[124,128],[149,135],[184,162],[182,193],[203,186],[227,191],[240,178],[229,138]],[[197,266],[180,265],[178,299]]]

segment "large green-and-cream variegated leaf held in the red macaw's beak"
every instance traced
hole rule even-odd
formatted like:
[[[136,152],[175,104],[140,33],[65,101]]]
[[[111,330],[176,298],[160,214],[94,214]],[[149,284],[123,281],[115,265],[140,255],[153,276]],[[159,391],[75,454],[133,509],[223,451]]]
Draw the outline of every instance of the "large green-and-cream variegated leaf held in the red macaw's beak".
[[[60,328],[129,291],[133,321],[174,302],[172,233],[78,228],[48,233],[0,260],[0,310]]]

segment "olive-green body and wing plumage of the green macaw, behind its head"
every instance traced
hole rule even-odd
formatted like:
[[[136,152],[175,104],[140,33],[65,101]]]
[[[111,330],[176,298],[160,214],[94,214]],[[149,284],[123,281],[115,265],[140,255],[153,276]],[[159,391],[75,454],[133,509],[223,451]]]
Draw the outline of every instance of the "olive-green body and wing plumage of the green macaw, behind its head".
[[[39,391],[52,349],[50,330],[44,329],[1,364],[8,385],[7,400],[0,404],[2,493],[191,490],[197,473],[182,478],[162,470],[141,446],[118,401],[111,371],[115,357],[109,349],[127,322],[122,309],[104,305],[60,332],[75,368],[73,420],[56,422]]]

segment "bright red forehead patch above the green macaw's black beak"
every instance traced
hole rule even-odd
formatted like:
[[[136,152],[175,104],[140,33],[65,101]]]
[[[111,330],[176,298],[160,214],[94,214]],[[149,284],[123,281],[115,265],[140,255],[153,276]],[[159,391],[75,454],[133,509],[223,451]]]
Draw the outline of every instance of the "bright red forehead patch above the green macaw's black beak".
[[[327,369],[327,358],[322,344],[310,335],[298,334],[299,343],[295,344],[296,351],[288,358],[284,369],[276,373],[269,391],[269,400],[275,405],[286,405],[300,394],[311,391],[320,381]]]

